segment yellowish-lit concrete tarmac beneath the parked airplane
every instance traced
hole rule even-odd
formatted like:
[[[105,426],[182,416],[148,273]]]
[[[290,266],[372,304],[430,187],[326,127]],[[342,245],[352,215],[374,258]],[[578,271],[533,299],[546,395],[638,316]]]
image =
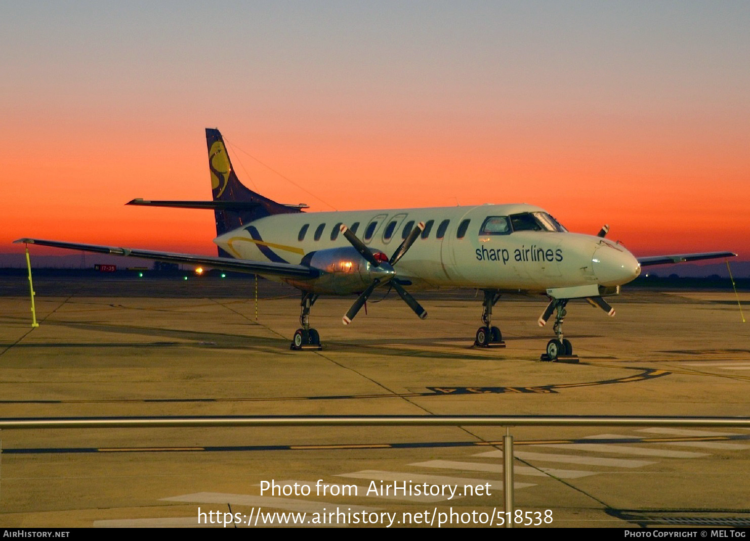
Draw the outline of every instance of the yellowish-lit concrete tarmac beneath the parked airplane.
[[[625,288],[609,299],[614,318],[571,301],[572,364],[539,360],[553,336],[551,324],[536,324],[544,298],[503,297],[493,324],[506,347],[475,348],[481,292],[417,293],[429,314],[421,321],[393,293],[373,302],[377,291],[347,327],[353,297],[322,297],[311,323],[323,350],[290,351],[299,296],[270,282],[260,282],[257,302],[253,279],[47,278],[35,288],[32,329],[28,282],[0,279],[3,419],[750,414],[750,322],[725,291]],[[750,293],[739,300],[747,319]],[[504,434],[4,430],[0,526],[496,527]],[[515,508],[532,523],[517,526],[750,526],[750,429],[511,434]]]

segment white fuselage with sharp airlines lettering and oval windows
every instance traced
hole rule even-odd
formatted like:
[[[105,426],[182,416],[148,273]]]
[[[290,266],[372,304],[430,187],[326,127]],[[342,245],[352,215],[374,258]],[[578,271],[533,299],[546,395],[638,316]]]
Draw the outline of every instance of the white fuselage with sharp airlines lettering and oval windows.
[[[349,247],[338,228],[342,223],[349,228],[359,224],[356,235],[371,250],[390,257],[401,244],[405,227],[432,220],[429,235],[417,238],[395,265],[396,276],[408,288],[541,292],[622,285],[640,273],[631,253],[604,238],[550,230],[488,233],[481,229],[490,217],[523,213],[544,211],[514,204],[277,214],[221,235],[214,243],[238,259],[299,264],[311,252]],[[445,220],[447,226],[440,228]],[[466,220],[461,236],[460,226]]]

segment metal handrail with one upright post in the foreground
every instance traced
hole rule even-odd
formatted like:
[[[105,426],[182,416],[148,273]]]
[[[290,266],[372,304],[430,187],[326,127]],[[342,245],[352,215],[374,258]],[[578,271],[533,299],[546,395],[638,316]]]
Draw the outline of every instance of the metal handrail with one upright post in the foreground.
[[[502,492],[505,528],[512,528],[513,426],[714,426],[750,428],[750,417],[338,415],[268,417],[79,417],[0,419],[2,429],[179,428],[220,426],[502,426]]]

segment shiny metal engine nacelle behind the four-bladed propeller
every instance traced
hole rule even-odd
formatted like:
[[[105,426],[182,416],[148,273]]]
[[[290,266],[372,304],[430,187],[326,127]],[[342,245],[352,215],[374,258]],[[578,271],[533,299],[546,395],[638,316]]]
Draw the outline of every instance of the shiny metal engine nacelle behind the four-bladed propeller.
[[[329,248],[308,253],[302,258],[300,265],[309,265],[322,273],[312,280],[295,281],[293,285],[322,294],[359,293],[376,279],[383,282],[394,276],[393,267],[389,265],[385,255],[374,255],[375,259],[383,261],[377,267],[371,265],[354,247]]]

